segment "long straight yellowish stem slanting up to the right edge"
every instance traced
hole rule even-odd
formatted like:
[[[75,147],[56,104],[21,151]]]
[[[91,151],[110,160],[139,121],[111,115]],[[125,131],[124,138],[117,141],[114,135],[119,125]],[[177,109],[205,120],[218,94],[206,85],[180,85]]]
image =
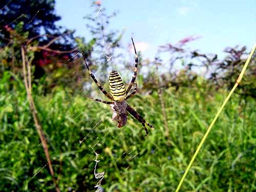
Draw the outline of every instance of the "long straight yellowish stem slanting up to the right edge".
[[[251,50],[251,53],[250,53],[249,57],[247,58],[247,60],[246,60],[246,62],[245,62],[245,65],[244,65],[244,67],[243,67],[243,69],[242,69],[242,71],[241,71],[241,73],[240,73],[240,75],[239,75],[239,77],[238,77],[238,79],[237,79],[237,82],[234,84],[232,90],[229,92],[229,94],[228,94],[228,96],[226,97],[225,101],[224,101],[223,104],[221,105],[219,111],[217,112],[217,114],[215,115],[214,119],[213,119],[212,122],[210,123],[210,126],[208,127],[208,130],[206,131],[206,133],[205,133],[203,139],[201,140],[200,144],[198,145],[195,154],[194,154],[193,157],[191,158],[191,160],[190,160],[190,162],[189,162],[189,164],[188,164],[188,166],[187,166],[187,168],[186,168],[186,170],[185,170],[185,173],[183,174],[183,176],[182,176],[182,178],[181,178],[181,180],[180,180],[180,183],[179,183],[178,187],[177,187],[176,190],[175,190],[176,192],[178,192],[178,191],[180,190],[180,187],[181,187],[181,185],[182,185],[182,183],[183,183],[183,181],[184,181],[184,179],[185,179],[185,177],[186,177],[186,175],[187,175],[187,173],[188,173],[188,171],[189,171],[191,165],[193,164],[194,160],[196,159],[196,157],[197,157],[197,155],[198,155],[198,153],[199,153],[199,151],[200,151],[200,149],[201,149],[201,147],[202,147],[204,141],[206,140],[207,136],[209,135],[210,130],[211,130],[212,126],[214,126],[214,123],[215,123],[215,121],[217,120],[217,118],[219,117],[219,115],[220,115],[222,109],[224,108],[224,106],[226,105],[227,101],[228,101],[229,98],[231,97],[232,93],[234,92],[234,90],[236,90],[236,88],[238,87],[238,84],[239,84],[240,81],[242,80],[242,77],[244,76],[245,70],[246,70],[246,68],[247,68],[247,66],[248,66],[248,64],[249,64],[249,62],[250,62],[250,60],[251,60],[251,57],[252,57],[252,55],[253,55],[255,49],[256,49],[256,44],[254,45],[253,49]]]

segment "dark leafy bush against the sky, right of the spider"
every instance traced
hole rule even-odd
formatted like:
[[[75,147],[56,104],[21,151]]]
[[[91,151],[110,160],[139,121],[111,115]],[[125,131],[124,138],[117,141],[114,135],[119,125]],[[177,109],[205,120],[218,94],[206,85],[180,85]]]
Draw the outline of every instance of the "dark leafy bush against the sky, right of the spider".
[[[200,50],[189,50],[187,44],[197,37],[186,37],[177,44],[160,46],[158,57],[150,64],[159,69],[165,69],[164,73],[155,75],[148,73],[144,80],[144,88],[156,91],[159,88],[193,87],[198,83],[198,75],[208,81],[209,89],[231,89],[240,74],[248,55],[246,47],[226,48],[227,56],[220,59],[217,54],[205,54]],[[168,66],[163,65],[161,53],[169,53]],[[166,70],[168,69],[168,70]],[[161,71],[161,70],[159,70]],[[256,98],[256,65],[255,55],[246,70],[244,81],[240,83],[238,94],[243,97]],[[160,82],[159,82],[160,81]],[[159,83],[156,83],[159,82]]]

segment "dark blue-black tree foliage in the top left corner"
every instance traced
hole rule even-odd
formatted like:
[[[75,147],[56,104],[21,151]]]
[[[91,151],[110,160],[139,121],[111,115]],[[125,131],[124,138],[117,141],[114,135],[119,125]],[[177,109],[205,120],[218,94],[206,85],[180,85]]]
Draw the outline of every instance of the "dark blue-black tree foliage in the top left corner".
[[[24,22],[24,27],[17,33],[29,32],[28,38],[39,35],[41,30],[51,33],[58,28],[54,24],[60,19],[54,13],[54,0],[2,0],[0,1],[0,46],[8,43],[10,29]]]

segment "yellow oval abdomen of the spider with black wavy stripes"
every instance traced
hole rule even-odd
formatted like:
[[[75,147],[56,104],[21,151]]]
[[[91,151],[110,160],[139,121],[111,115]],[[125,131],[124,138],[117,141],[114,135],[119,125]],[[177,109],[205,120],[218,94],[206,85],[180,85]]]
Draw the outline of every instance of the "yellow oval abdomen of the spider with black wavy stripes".
[[[117,71],[112,71],[109,77],[110,94],[114,101],[123,101],[126,97],[126,89],[121,76]]]

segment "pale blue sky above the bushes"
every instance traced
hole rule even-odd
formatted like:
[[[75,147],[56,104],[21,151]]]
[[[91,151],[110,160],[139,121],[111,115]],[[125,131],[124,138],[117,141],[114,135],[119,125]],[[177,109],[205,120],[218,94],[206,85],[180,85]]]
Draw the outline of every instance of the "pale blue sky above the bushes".
[[[154,58],[158,46],[175,44],[187,36],[200,39],[189,44],[191,49],[203,53],[222,53],[228,46],[247,46],[250,50],[256,39],[256,2],[248,1],[111,1],[102,0],[102,6],[112,13],[110,28],[125,33],[122,44],[131,44],[143,56]],[[56,13],[62,17],[59,25],[75,29],[79,36],[87,37],[83,16],[93,13],[89,0],[57,0]],[[87,38],[90,39],[90,38]]]

